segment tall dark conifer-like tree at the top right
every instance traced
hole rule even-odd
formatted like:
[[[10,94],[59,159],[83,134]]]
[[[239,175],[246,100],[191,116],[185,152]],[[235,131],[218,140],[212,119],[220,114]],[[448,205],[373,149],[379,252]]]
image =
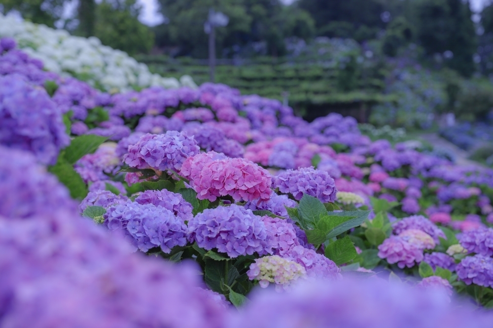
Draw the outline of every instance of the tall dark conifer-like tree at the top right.
[[[469,2],[420,0],[417,4],[418,41],[427,55],[451,51],[446,66],[464,76],[474,72],[477,35]]]

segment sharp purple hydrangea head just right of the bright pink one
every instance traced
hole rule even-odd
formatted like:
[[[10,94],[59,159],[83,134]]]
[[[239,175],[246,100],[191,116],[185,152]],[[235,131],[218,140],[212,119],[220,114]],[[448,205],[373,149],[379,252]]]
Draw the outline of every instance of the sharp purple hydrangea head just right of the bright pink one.
[[[334,202],[337,194],[334,179],[313,166],[284,171],[274,177],[272,186],[279,188],[281,193],[293,195],[296,200],[307,194],[324,203]]]

